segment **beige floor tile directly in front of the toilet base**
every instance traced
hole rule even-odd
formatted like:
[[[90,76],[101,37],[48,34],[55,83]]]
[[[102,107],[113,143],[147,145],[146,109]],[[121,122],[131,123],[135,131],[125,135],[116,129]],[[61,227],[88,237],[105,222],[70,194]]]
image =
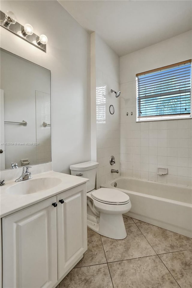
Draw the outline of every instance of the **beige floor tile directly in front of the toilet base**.
[[[101,236],[108,262],[156,254],[135,224],[125,224],[125,227],[125,239],[116,240]]]

